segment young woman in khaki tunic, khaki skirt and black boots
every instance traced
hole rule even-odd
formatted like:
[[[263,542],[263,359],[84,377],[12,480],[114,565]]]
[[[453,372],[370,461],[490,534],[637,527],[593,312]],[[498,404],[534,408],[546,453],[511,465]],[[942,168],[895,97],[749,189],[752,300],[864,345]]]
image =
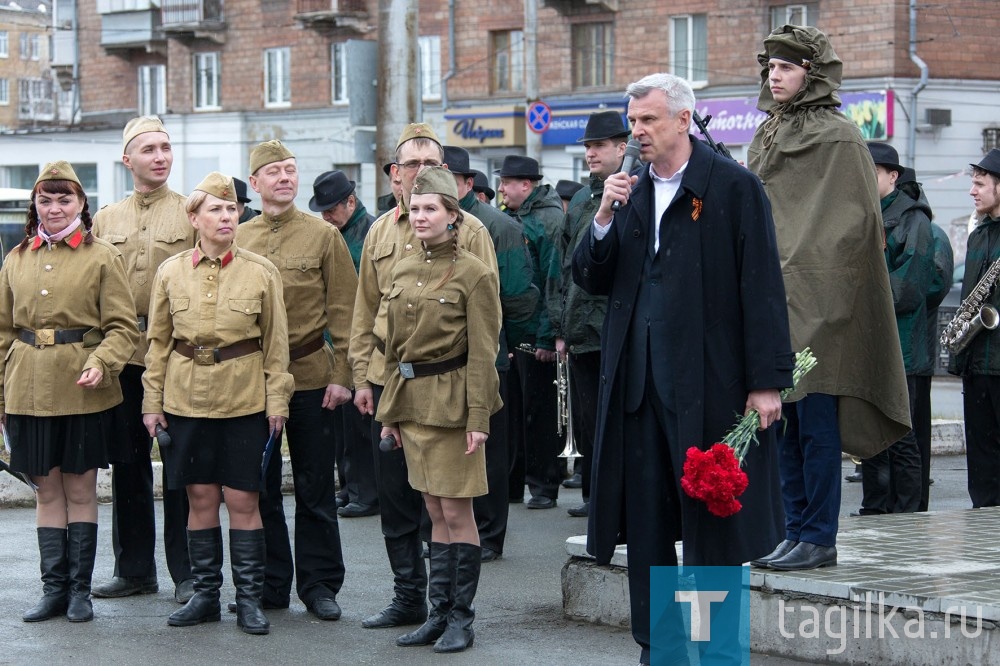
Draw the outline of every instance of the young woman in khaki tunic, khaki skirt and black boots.
[[[459,652],[472,646],[481,561],[472,498],[487,492],[483,446],[490,416],[502,406],[499,283],[492,268],[458,246],[462,210],[447,169],[417,176],[410,224],[424,251],[393,269],[388,379],[376,420],[386,424],[382,436],[403,447],[410,485],[431,517],[431,611],[396,643]]]

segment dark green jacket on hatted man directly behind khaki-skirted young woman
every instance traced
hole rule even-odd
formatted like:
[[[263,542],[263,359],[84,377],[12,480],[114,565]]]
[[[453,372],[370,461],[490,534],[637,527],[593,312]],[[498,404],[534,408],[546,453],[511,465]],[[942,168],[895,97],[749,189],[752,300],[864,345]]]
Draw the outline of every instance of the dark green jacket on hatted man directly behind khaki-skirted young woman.
[[[500,306],[503,311],[497,368],[507,370],[510,368],[508,350],[527,342],[534,333],[538,287],[531,282],[534,267],[528,242],[513,218],[479,201],[475,192],[466,194],[459,205],[465,212],[476,216],[493,239],[493,248],[497,253],[497,272],[500,276]]]

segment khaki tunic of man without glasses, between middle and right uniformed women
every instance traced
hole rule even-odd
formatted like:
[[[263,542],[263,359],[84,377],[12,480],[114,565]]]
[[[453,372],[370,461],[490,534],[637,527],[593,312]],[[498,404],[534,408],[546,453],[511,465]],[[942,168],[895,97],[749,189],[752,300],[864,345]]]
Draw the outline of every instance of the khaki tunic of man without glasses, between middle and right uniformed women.
[[[295,390],[351,386],[347,365],[351,310],[358,277],[347,244],[336,227],[292,206],[277,216],[262,213],[236,229],[240,247],[278,267],[288,314],[288,345],[295,350],[330,333],[324,345],[298,360],[289,372]]]

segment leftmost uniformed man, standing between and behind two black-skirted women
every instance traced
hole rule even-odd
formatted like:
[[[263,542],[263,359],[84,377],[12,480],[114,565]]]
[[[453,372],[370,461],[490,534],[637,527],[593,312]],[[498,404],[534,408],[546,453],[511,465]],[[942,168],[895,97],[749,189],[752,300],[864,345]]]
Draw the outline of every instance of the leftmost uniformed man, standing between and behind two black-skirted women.
[[[93,589],[98,598],[127,597],[158,591],[156,521],[153,514],[153,467],[149,433],[142,425],[142,373],[146,356],[146,315],[156,270],[175,254],[194,247],[195,230],[184,212],[185,197],[167,186],[174,156],[159,118],[133,118],[122,135],[122,162],[132,172],[135,191],[94,216],[94,235],[122,253],[138,314],[139,343],[120,381],[127,415],[130,456],[114,460],[111,539],[114,578]],[[161,457],[166,451],[160,452]],[[163,542],[174,598],[186,603],[194,594],[187,550],[188,502],[184,488],[163,484]]]

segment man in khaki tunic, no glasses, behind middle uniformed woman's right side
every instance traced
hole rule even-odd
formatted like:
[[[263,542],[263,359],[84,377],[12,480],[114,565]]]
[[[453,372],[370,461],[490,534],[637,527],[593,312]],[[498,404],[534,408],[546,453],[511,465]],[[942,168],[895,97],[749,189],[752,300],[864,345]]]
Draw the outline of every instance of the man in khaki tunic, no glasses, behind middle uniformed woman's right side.
[[[331,411],[351,399],[347,332],[358,278],[340,232],[295,207],[299,174],[287,147],[276,140],[259,144],[250,153],[250,174],[262,212],[237,228],[236,242],[278,267],[288,311],[288,370],[295,393],[285,432],[295,482],[295,587],[313,615],[337,620],[344,556]],[[267,540],[264,607],[288,608],[293,567],[280,455],[271,457],[260,514]]]

